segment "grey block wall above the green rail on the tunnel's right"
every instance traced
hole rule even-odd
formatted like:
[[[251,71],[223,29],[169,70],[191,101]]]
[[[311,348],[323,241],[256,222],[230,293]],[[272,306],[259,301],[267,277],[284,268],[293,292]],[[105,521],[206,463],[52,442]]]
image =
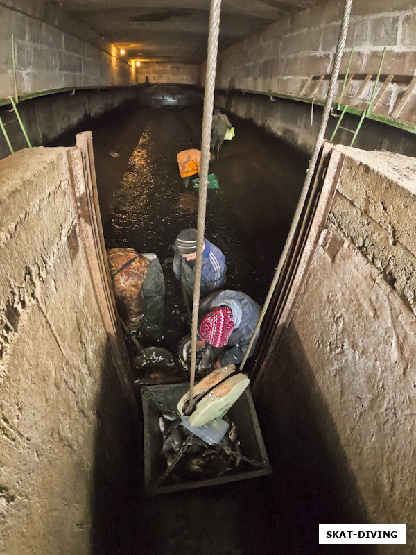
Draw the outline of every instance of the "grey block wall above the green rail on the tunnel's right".
[[[310,75],[326,74],[313,93],[317,81],[304,96],[324,99],[336,49],[344,2],[332,0],[289,15],[265,31],[248,37],[218,57],[216,86],[300,96]],[[346,90],[351,103],[364,74],[376,74],[383,47],[387,47],[382,74],[395,74],[375,113],[391,116],[416,74],[416,6],[413,0],[354,2],[341,74],[345,74],[349,54],[354,56],[349,72],[355,74]],[[367,84],[357,107],[366,107],[374,80]],[[338,82],[338,96],[342,81]],[[379,88],[381,83],[379,84]],[[416,94],[413,93],[399,119],[416,123]]]

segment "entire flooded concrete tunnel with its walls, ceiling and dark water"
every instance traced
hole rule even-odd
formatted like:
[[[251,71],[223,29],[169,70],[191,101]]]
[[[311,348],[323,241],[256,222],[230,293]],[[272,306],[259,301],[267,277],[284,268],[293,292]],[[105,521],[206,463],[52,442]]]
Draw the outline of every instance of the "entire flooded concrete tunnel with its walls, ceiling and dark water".
[[[209,165],[206,234],[260,304],[343,9],[222,3],[214,102],[236,137]],[[175,156],[200,146],[209,2],[4,0],[0,22],[0,553],[413,554],[415,2],[352,4],[316,189],[247,366],[272,474],[151,497],[103,261],[163,262],[196,223]],[[406,524],[406,545],[323,545],[323,523]]]

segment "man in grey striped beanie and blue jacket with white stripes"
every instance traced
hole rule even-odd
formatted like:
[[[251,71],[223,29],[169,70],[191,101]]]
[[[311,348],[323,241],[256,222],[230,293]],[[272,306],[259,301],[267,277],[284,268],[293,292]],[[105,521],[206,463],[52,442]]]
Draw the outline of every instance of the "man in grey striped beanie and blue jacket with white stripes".
[[[174,244],[173,271],[177,280],[181,280],[189,298],[193,298],[196,243],[196,229],[185,229],[177,235]],[[204,238],[200,296],[224,287],[226,271],[225,256],[218,247]]]

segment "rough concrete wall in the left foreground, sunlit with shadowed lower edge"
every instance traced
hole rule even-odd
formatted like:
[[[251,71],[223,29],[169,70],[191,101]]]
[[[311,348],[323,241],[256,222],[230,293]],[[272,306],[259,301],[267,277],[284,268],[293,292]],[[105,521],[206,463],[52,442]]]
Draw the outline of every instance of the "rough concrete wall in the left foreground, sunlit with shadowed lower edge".
[[[124,454],[137,436],[78,237],[67,150],[0,161],[0,552],[8,555],[101,546],[123,522],[134,479]]]

